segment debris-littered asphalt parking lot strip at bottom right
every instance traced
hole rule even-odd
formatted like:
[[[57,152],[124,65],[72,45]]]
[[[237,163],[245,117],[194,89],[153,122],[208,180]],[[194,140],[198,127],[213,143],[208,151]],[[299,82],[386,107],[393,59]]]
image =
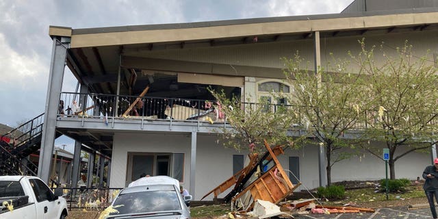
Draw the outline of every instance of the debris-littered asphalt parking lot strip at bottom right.
[[[367,219],[413,219],[413,218],[432,218],[428,207],[422,209],[409,210],[407,207],[377,208],[374,213],[346,213],[346,214],[305,214],[294,215],[294,218],[320,218],[320,219],[346,219],[346,218],[367,218]]]

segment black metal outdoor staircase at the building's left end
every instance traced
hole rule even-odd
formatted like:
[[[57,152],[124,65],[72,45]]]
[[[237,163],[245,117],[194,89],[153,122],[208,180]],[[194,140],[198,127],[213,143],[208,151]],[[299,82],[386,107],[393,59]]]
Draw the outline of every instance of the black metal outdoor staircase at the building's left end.
[[[0,175],[37,175],[38,166],[27,157],[41,147],[43,121],[44,113],[0,136]]]

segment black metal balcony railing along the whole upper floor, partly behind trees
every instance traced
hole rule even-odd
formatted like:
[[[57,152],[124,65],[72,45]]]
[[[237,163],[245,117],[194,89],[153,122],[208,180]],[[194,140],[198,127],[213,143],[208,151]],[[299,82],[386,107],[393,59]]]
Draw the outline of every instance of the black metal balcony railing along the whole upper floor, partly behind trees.
[[[211,103],[215,103],[215,101],[62,92],[58,116],[226,123],[226,119],[218,116],[218,110],[215,110],[212,106],[214,104]],[[262,107],[262,110],[266,112],[290,113],[289,108],[292,105],[242,103],[240,107],[248,110],[256,110]],[[295,109],[297,108],[295,107]],[[309,121],[303,116],[302,110],[298,108],[294,112],[296,121],[292,122],[291,125],[300,129],[307,129]],[[361,119],[361,122],[352,123],[350,129],[363,130],[370,127],[370,125],[376,126],[378,123],[383,123],[382,118],[378,118],[378,110],[367,110],[360,117],[365,119]],[[437,118],[430,120],[429,124],[437,124]],[[342,127],[342,125],[339,127]]]

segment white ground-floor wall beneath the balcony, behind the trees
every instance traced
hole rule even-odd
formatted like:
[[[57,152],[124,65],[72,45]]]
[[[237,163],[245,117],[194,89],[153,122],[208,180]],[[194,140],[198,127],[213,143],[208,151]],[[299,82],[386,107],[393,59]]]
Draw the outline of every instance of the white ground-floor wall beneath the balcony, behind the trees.
[[[235,149],[224,149],[222,144],[216,143],[216,134],[198,134],[196,152],[196,191],[195,200],[199,200],[207,192],[216,188],[220,183],[233,175],[233,155],[244,155],[247,159],[248,151],[241,152]],[[172,133],[118,133],[114,136],[114,150],[112,159],[112,177],[110,187],[125,187],[127,153],[185,153],[184,187],[190,188],[190,134]],[[397,154],[400,154],[399,151]],[[281,166],[289,168],[289,157],[300,159],[299,190],[318,188],[318,149],[313,145],[305,145],[300,149],[285,149],[284,155],[279,155]],[[411,153],[396,162],[396,178],[416,179],[421,177],[424,168],[430,165],[430,154]],[[289,173],[287,172],[287,175]],[[378,180],[385,178],[385,162],[381,159],[362,153],[333,166],[332,182],[351,180]],[[229,191],[224,192],[223,198]],[[193,192],[192,192],[193,193]],[[213,195],[205,200],[211,200]]]

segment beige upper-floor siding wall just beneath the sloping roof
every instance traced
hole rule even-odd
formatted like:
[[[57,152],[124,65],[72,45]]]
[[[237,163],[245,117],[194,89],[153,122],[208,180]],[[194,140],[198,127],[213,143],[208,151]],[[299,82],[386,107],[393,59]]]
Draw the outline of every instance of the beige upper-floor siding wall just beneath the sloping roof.
[[[426,55],[430,50],[428,60],[433,64],[433,53],[438,52],[438,31],[413,31],[410,33],[368,34],[363,36],[321,37],[321,63],[326,66],[332,61],[331,53],[337,58],[350,60],[348,51],[357,55],[361,49],[358,40],[365,38],[366,44],[371,47],[376,45],[376,53],[384,42],[387,53],[395,53],[397,47],[402,47],[405,40],[413,44],[417,57]],[[313,70],[313,40],[294,40],[291,42],[270,42],[240,44],[224,47],[205,47],[199,49],[174,49],[168,51],[148,51],[144,57],[154,57],[169,60],[183,60],[190,62],[206,62],[217,64],[235,64],[242,66],[261,66],[271,68],[284,68],[282,57],[292,58],[296,51],[306,61],[309,69]],[[376,62],[381,62],[381,56],[376,57]],[[303,64],[302,67],[305,67]],[[268,75],[267,75],[268,77]]]

